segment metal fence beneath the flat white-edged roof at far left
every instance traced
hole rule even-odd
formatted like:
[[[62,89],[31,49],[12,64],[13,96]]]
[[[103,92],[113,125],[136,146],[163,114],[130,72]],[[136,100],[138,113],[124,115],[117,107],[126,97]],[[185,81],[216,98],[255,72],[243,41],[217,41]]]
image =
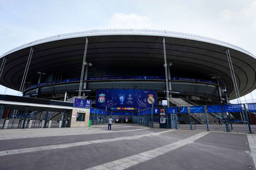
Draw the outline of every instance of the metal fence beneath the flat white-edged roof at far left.
[[[69,127],[71,110],[1,105],[0,129]]]

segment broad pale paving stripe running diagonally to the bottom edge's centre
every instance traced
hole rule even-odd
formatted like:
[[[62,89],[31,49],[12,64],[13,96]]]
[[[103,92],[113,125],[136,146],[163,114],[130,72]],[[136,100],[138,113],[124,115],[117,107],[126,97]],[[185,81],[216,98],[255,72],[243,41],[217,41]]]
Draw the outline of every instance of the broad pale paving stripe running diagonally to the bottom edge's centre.
[[[165,146],[161,146],[159,148],[154,148],[152,150],[148,150],[146,152],[142,152],[140,154],[135,154],[133,156],[128,156],[126,158],[122,158],[116,161],[110,161],[108,163],[104,163],[102,165],[98,165],[95,167],[88,168],[86,170],[96,170],[96,169],[125,169],[128,167],[131,167],[133,165],[137,165],[141,162],[151,160],[153,158],[156,158],[157,156],[160,156],[162,154],[165,154],[167,152],[170,152],[171,150],[175,150],[177,148],[180,148],[181,146],[184,146],[186,144],[194,143],[197,139],[200,139],[201,137],[207,135],[209,131],[198,133],[192,137],[188,137],[186,139],[182,139],[180,141],[177,141],[175,143],[167,144]]]

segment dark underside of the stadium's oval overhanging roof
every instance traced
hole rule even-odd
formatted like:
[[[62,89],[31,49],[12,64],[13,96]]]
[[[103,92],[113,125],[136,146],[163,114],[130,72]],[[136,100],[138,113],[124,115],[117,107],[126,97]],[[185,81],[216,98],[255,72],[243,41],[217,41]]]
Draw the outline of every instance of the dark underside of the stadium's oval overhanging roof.
[[[113,34],[113,33],[112,33]],[[89,76],[164,75],[163,36],[117,33],[116,35],[77,35],[28,44],[4,54],[7,58],[0,84],[19,90],[30,48],[34,52],[27,82],[37,83],[37,72],[63,72],[64,78],[79,78],[88,38],[86,61],[93,63]],[[230,99],[236,98],[226,49],[230,50],[240,96],[256,88],[256,59],[247,52],[214,42],[165,35],[167,62],[173,63],[171,75],[219,77]]]

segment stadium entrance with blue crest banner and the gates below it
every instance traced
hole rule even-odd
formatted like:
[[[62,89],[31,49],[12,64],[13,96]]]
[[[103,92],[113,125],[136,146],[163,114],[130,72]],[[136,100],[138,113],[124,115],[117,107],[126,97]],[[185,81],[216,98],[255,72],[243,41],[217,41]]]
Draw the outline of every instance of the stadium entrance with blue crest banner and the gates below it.
[[[104,110],[108,116],[112,116],[116,124],[136,123],[153,127],[154,122],[158,124],[157,127],[167,127],[167,116],[162,118],[164,123],[160,122],[156,90],[98,89],[95,108]],[[93,124],[106,122],[98,111],[91,110],[91,114]]]

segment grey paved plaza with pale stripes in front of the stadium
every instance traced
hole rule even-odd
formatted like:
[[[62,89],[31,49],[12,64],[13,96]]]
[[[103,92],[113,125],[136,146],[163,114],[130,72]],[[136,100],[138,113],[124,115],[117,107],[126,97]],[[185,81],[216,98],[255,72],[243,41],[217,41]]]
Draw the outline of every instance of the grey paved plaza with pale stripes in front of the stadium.
[[[0,169],[255,169],[255,160],[256,136],[246,133],[115,124],[0,130]]]

